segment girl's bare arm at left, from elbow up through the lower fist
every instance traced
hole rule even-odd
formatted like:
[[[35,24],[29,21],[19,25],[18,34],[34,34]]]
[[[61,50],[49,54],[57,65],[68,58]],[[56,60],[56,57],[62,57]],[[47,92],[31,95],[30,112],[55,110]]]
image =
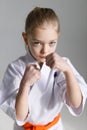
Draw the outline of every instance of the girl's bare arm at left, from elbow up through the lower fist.
[[[17,120],[23,121],[29,113],[29,91],[30,87],[40,78],[40,71],[35,65],[26,67],[24,76],[20,83],[19,92],[16,97],[15,109]]]

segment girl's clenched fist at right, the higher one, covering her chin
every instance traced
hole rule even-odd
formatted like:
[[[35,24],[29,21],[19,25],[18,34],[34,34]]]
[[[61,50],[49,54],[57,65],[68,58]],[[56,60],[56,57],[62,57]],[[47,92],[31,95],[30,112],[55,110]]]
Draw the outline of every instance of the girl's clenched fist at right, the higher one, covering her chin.
[[[52,69],[58,69],[62,72],[67,72],[70,69],[66,60],[57,53],[51,53],[46,57],[46,65]]]

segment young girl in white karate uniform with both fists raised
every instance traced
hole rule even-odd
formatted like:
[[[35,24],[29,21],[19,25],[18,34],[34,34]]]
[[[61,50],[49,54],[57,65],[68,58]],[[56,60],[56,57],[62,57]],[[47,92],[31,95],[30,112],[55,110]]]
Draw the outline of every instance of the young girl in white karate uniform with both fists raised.
[[[22,36],[27,54],[5,72],[1,108],[25,130],[63,130],[63,104],[72,115],[80,115],[87,85],[70,60],[55,52],[60,36],[57,15],[49,8],[34,8]]]

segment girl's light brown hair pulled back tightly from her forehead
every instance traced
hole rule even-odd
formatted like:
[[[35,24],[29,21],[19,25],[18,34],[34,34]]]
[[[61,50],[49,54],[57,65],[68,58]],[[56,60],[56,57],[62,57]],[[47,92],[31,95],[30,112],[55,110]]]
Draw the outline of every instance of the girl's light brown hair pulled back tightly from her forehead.
[[[57,31],[60,32],[59,18],[50,8],[35,7],[27,16],[25,22],[25,32],[31,34],[33,30],[44,22],[51,22],[53,25],[57,25]]]

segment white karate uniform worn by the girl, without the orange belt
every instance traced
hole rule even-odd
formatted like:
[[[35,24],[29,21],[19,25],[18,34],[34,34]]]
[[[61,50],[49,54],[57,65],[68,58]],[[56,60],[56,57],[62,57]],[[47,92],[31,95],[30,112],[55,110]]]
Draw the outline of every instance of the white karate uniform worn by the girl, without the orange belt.
[[[26,122],[45,125],[53,121],[65,104],[70,113],[78,116],[82,113],[87,96],[87,84],[73,67],[68,58],[65,58],[71,66],[77,81],[79,82],[83,101],[79,108],[72,108],[66,99],[66,80],[62,72],[51,70],[45,63],[41,68],[40,79],[31,87],[29,92],[29,115],[26,120],[18,121],[15,116],[15,99],[19,90],[20,81],[24,75],[27,64],[37,64],[31,54],[26,54],[8,65],[0,87],[0,107],[19,126]],[[61,119],[49,130],[63,130]]]

